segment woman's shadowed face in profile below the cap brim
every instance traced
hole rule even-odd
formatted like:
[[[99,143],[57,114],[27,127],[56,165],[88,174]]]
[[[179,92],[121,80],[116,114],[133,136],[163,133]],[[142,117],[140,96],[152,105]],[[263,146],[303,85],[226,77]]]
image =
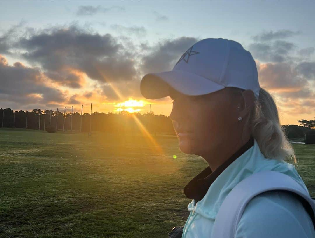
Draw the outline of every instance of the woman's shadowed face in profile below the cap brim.
[[[203,157],[224,143],[226,136],[233,135],[238,110],[229,90],[187,96],[171,89],[170,97],[174,101],[170,119],[181,152]]]

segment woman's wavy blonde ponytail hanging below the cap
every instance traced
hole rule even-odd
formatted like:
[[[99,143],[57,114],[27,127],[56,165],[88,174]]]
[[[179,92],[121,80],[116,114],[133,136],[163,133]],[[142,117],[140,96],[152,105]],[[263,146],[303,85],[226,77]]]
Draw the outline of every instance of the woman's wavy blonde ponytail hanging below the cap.
[[[239,90],[238,90],[239,91]],[[241,89],[241,91],[244,91]],[[242,93],[243,96],[243,93]],[[278,109],[273,96],[260,88],[258,100],[247,117],[248,125],[253,137],[257,141],[261,153],[266,158],[289,159],[298,165],[293,147],[291,146],[284,128],[280,125]]]

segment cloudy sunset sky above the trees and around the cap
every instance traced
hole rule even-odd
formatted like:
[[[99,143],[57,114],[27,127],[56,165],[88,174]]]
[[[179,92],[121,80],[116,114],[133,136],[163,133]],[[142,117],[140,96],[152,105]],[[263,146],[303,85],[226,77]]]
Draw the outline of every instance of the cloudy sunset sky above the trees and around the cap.
[[[315,1],[0,1],[0,107],[150,110],[140,80],[197,41],[239,42],[280,123],[315,117]],[[62,109],[63,110],[63,109]]]

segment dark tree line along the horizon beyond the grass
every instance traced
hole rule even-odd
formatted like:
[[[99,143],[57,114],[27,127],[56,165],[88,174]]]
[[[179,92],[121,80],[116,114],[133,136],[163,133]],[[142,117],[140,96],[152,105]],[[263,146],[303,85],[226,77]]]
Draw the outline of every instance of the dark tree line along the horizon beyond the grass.
[[[57,123],[58,113],[58,123]],[[14,115],[15,114],[15,115]],[[2,121],[3,118],[3,121]],[[151,134],[173,134],[172,122],[169,116],[154,115],[154,112],[128,113],[122,111],[120,114],[112,112],[94,112],[92,115],[84,113],[82,115],[81,127],[81,114],[78,112],[64,114],[60,111],[53,110],[40,110],[33,109],[27,111],[27,125],[26,125],[26,112],[23,110],[13,111],[10,108],[0,109],[0,126],[5,128],[30,128],[44,130],[44,127],[49,125],[58,127],[58,130],[63,130],[63,121],[65,118],[65,130],[72,130],[82,132],[102,131],[107,133],[140,133],[141,128],[146,128]],[[315,119],[315,118],[314,118]],[[40,121],[40,123],[39,123]],[[304,138],[305,134],[315,133],[315,120],[299,120],[301,126],[298,125],[283,125],[284,131],[288,138]],[[3,123],[3,124],[2,124]],[[142,126],[140,126],[140,124]]]

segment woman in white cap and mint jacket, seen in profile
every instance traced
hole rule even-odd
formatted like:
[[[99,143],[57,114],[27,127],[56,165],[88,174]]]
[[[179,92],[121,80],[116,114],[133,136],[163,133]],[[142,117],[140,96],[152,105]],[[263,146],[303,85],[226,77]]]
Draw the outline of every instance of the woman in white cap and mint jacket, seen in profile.
[[[255,61],[238,42],[198,41],[172,71],[146,74],[140,90],[148,99],[173,99],[170,119],[180,150],[199,155],[209,164],[184,188],[192,199],[191,213],[182,236],[176,237],[212,237],[215,217],[227,194],[254,173],[281,172],[307,191],[295,167],[284,161],[296,163],[296,158],[279,123],[276,104],[259,86]],[[297,197],[268,191],[250,200],[235,237],[306,238],[315,237],[315,231]]]

